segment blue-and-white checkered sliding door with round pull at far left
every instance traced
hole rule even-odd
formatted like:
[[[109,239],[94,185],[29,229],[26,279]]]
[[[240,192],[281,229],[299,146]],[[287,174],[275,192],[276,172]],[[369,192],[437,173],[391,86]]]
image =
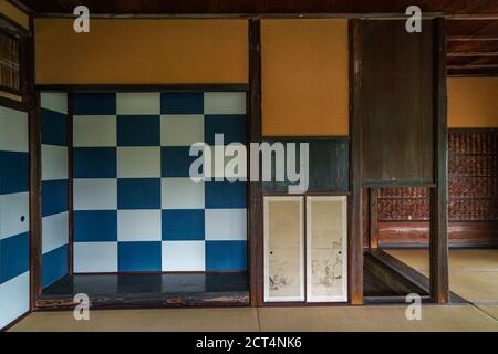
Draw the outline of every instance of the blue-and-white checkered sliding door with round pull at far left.
[[[28,114],[0,107],[0,329],[29,311]]]

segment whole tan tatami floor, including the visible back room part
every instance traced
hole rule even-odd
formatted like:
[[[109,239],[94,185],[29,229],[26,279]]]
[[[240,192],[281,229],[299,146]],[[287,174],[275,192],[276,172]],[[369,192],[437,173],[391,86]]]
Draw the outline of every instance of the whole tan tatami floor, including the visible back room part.
[[[428,274],[427,250],[388,250]],[[494,331],[498,332],[498,250],[452,250],[450,289],[466,304],[422,308],[421,321],[405,305],[230,308],[35,312],[11,331]]]

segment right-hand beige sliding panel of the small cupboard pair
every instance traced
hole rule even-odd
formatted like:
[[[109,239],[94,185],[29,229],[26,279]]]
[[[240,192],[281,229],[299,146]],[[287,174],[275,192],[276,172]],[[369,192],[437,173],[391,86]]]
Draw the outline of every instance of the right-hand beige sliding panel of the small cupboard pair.
[[[307,197],[307,300],[347,301],[347,198]]]

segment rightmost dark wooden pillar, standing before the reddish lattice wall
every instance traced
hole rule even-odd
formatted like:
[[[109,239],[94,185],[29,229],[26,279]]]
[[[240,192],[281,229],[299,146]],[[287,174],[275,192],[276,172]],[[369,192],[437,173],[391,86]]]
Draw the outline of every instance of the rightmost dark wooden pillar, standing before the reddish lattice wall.
[[[430,189],[430,295],[437,303],[447,303],[448,285],[448,134],[446,116],[446,22],[434,20],[434,176]]]

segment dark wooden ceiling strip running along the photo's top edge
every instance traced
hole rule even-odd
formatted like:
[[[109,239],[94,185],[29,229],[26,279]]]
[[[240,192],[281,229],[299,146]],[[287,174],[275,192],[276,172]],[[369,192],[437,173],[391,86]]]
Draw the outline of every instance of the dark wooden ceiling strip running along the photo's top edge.
[[[71,13],[80,0],[22,0],[40,12]],[[293,1],[253,1],[253,0],[183,0],[183,1],[123,1],[86,0],[83,2],[93,13],[404,13],[408,6],[421,7],[423,13],[440,12],[447,14],[488,14],[497,13],[496,0],[448,1],[448,0],[293,0]]]

